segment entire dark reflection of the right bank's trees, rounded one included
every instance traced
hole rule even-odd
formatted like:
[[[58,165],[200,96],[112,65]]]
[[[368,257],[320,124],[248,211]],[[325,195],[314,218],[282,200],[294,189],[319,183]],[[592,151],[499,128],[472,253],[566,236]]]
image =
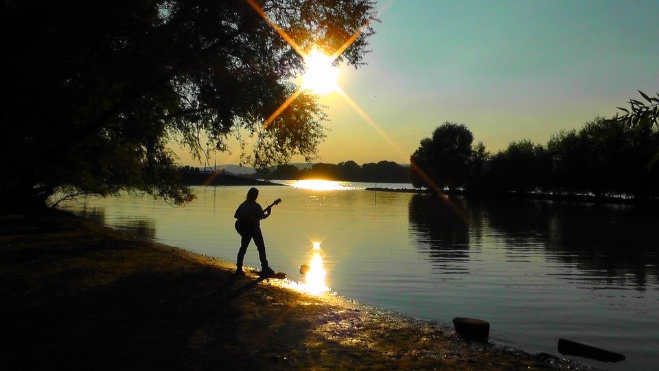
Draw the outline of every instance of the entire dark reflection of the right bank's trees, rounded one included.
[[[546,261],[576,267],[593,286],[644,291],[648,280],[659,283],[659,207],[452,200],[471,227],[440,197],[414,195],[409,204],[413,243],[441,273],[469,273],[470,249],[494,243],[510,259],[541,249]]]

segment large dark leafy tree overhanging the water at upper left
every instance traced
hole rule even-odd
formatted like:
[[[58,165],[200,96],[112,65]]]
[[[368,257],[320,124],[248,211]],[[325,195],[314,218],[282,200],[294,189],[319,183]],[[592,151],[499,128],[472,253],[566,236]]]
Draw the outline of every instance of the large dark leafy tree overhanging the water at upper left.
[[[202,158],[253,136],[257,167],[314,158],[325,113],[313,95],[262,125],[303,63],[250,2],[2,1],[3,200],[43,205],[71,186],[185,203],[170,140]],[[371,1],[257,2],[305,50],[334,52],[362,30],[336,63],[363,63]]]

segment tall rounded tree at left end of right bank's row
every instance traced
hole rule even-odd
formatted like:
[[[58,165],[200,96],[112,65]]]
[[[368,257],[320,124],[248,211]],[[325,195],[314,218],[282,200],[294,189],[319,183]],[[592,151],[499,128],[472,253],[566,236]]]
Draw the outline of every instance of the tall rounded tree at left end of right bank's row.
[[[464,124],[445,122],[435,128],[410,158],[413,186],[432,188],[429,180],[451,190],[463,186],[470,175],[473,141]]]

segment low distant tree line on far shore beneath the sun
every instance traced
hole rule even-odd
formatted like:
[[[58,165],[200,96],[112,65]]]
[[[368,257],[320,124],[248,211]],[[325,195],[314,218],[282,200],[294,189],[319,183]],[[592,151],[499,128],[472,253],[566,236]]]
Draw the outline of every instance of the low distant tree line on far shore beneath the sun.
[[[384,183],[409,183],[409,166],[393,161],[379,161],[377,164],[358,165],[355,161],[338,164],[319,162],[311,168],[300,169],[294,165],[279,165],[269,170],[259,170],[255,177],[259,179],[328,179],[336,181],[366,181]]]

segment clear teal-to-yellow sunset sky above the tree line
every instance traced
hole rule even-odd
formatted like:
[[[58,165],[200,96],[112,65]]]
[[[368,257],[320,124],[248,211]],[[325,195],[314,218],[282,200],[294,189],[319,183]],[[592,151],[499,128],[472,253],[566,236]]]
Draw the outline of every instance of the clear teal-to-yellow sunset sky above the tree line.
[[[321,98],[330,121],[315,162],[407,164],[447,121],[491,153],[520,139],[546,144],[640,100],[637,89],[659,91],[656,0],[376,3],[368,65],[340,67],[338,85],[354,104]],[[174,148],[181,164],[200,166]],[[231,150],[211,165],[238,164]]]

